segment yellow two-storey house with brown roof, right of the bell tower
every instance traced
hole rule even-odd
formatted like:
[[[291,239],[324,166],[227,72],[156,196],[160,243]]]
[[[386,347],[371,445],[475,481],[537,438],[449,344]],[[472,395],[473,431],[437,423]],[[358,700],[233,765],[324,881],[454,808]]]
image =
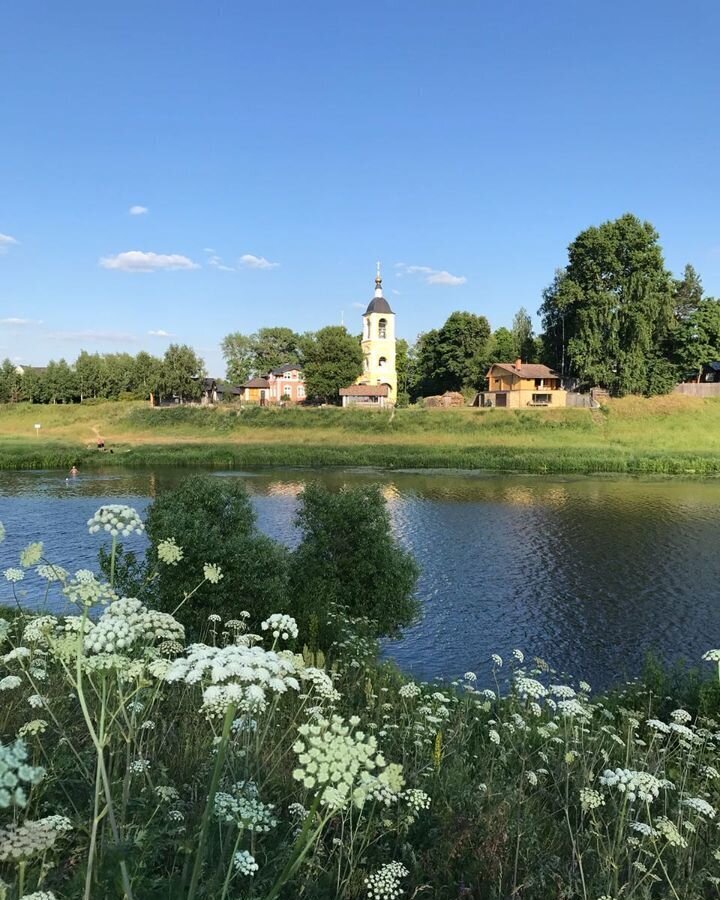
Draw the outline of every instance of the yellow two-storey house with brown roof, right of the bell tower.
[[[487,373],[488,389],[473,406],[520,409],[527,406],[566,406],[567,391],[557,372],[537,363],[494,363]]]

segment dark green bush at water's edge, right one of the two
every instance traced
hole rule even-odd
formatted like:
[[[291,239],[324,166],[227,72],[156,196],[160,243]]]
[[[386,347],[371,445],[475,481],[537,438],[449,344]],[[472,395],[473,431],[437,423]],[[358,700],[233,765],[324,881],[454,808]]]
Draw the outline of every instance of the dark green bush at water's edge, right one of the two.
[[[395,540],[380,489],[332,493],[308,485],[297,524],[302,540],[290,563],[290,596],[305,633],[323,628],[327,612],[372,620],[376,636],[394,635],[417,615],[418,567]],[[325,639],[326,640],[326,639]]]

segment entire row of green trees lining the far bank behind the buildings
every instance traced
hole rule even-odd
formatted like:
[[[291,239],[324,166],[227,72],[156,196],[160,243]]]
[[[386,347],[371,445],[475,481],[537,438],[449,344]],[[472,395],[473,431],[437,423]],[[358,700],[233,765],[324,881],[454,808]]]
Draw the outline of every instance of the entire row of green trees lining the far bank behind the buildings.
[[[521,308],[511,328],[492,331],[485,316],[453,312],[409,346],[397,341],[398,400],[485,386],[494,362],[518,357],[544,362],[580,385],[613,394],[657,394],[678,380],[699,377],[720,359],[720,300],[706,297],[691,265],[674,279],[657,231],[626,214],[581,232],[567,265],[543,293],[543,330]],[[360,335],[331,325],[299,334],[291,328],[234,332],[221,344],[227,378],[241,384],[284,363],[302,366],[306,396],[338,402],[341,387],[362,372]],[[90,354],[73,365],[51,362],[19,375],[8,360],[0,369],[0,402],[69,402],[122,397],[197,399],[203,362],[188,346],[171,345],[163,359],[149,353]]]

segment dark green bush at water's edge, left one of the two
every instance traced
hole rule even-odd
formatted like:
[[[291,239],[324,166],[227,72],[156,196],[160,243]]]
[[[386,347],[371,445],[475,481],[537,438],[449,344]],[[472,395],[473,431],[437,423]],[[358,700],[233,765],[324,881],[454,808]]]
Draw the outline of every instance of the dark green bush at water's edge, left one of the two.
[[[177,618],[196,638],[211,613],[236,619],[251,614],[251,626],[273,612],[288,612],[288,551],[261,534],[244,486],[233,479],[196,475],[174,490],[160,494],[150,505],[146,521],[150,540],[148,562],[158,565],[150,582],[154,605],[172,612],[202,580],[205,563],[219,565],[223,578],[206,582],[183,604]],[[160,541],[175,538],[183,549],[180,565],[157,563]]]

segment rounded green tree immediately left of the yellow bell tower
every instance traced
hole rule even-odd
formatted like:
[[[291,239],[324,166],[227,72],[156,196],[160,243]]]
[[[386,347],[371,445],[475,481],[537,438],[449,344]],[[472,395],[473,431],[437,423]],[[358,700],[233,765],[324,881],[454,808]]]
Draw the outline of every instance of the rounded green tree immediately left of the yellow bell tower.
[[[316,403],[338,403],[341,387],[362,372],[362,351],[343,325],[328,325],[303,339],[305,391]]]

